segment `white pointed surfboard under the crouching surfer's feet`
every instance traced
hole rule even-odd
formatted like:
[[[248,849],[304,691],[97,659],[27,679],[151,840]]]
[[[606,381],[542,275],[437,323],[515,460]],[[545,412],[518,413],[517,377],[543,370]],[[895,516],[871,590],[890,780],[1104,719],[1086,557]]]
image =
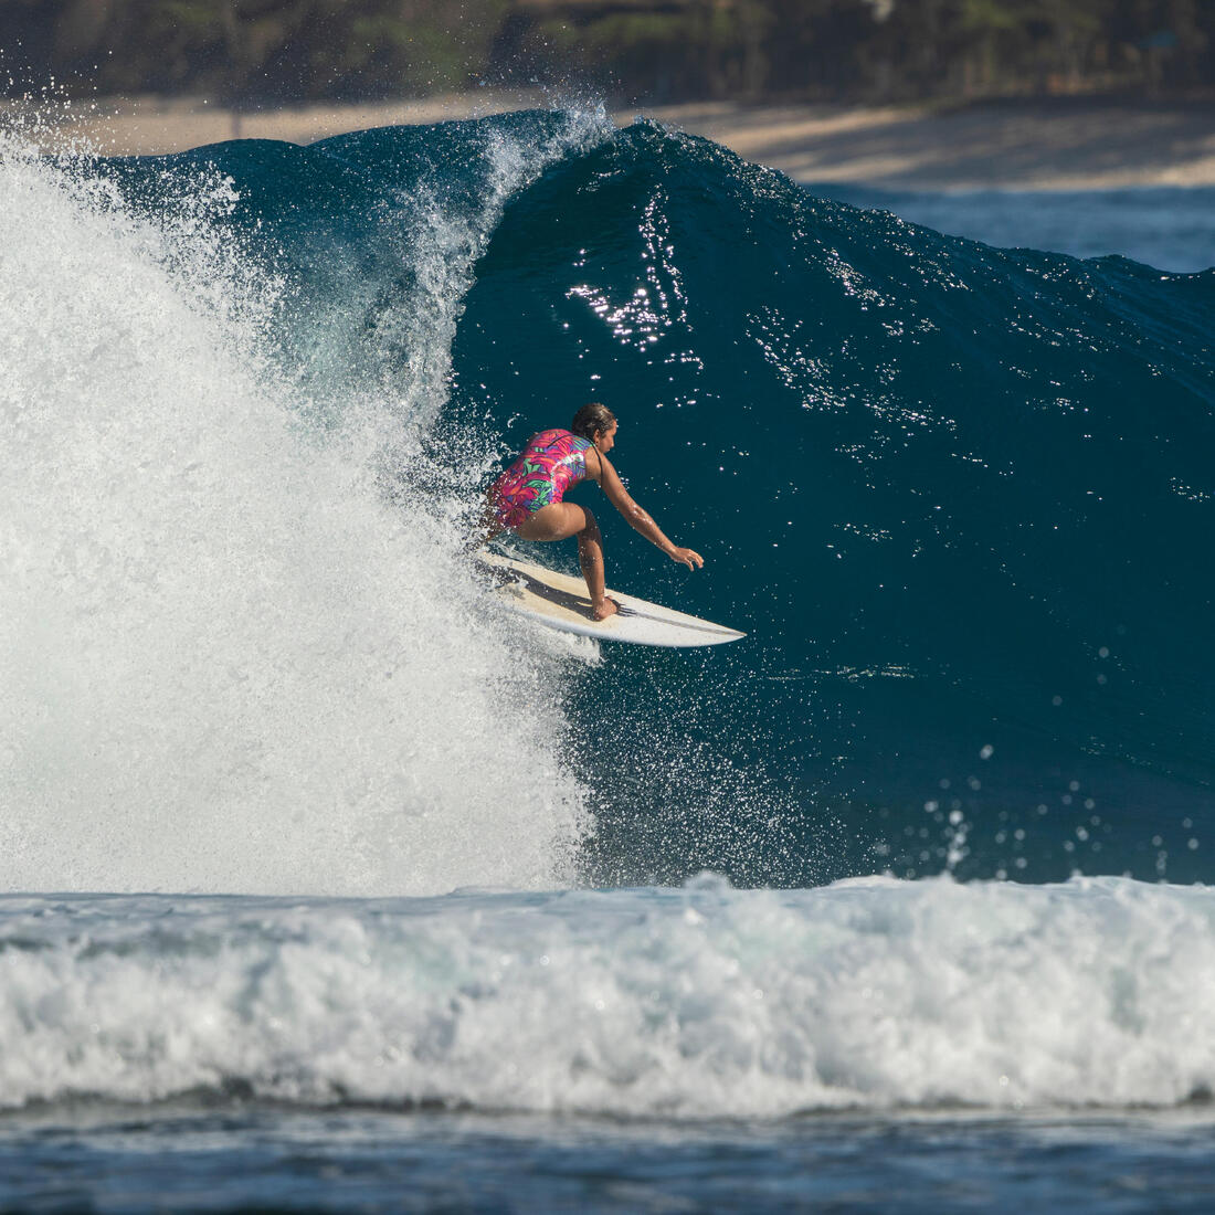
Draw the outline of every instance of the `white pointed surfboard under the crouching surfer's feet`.
[[[582,578],[487,549],[476,556],[490,573],[496,599],[520,616],[563,633],[577,633],[603,642],[680,648],[722,645],[747,635],[618,590],[609,590],[608,594],[620,604],[620,611],[606,620],[592,620],[590,597]]]

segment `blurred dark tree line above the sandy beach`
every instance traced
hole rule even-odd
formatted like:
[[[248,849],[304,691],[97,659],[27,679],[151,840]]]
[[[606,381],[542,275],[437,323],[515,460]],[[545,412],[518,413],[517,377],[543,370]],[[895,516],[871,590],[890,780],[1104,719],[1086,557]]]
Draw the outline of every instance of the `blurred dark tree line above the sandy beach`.
[[[0,0],[0,84],[228,104],[477,84],[900,101],[1215,91],[1215,0]]]

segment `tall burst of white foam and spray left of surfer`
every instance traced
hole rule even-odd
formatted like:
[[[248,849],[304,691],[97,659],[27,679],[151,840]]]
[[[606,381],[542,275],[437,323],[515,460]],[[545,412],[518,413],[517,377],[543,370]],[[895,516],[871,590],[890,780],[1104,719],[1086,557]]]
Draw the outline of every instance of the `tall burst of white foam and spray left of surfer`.
[[[382,492],[503,199],[560,152],[508,143],[479,216],[426,211],[420,371],[326,442],[267,352],[276,284],[208,220],[230,182],[151,222],[0,146],[0,889],[567,878],[559,662],[486,616],[442,503]]]

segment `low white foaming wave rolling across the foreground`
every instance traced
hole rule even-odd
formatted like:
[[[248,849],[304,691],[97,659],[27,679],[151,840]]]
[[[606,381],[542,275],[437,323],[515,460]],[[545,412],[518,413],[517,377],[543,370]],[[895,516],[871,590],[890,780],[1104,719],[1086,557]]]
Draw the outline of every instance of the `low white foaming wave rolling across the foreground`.
[[[679,1118],[1215,1089],[1215,893],[857,880],[0,899],[0,1100]]]

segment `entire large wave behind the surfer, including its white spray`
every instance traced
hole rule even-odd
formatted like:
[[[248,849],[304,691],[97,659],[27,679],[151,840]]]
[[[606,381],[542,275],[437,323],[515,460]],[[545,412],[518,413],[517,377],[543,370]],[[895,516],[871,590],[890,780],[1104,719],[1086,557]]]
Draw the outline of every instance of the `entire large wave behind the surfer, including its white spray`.
[[[1209,875],[1215,275],[559,113],[0,174],[4,887]],[[485,611],[588,399],[745,643]]]

